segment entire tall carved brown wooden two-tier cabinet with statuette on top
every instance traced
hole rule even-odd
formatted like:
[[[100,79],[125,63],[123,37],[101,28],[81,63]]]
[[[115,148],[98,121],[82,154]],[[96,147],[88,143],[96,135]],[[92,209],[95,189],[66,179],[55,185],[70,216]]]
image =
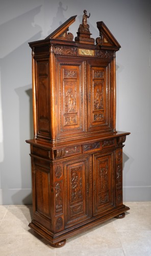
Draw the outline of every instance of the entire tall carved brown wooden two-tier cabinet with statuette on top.
[[[27,140],[33,187],[29,226],[55,247],[129,210],[122,201],[122,147],[130,133],[115,128],[120,45],[103,22],[97,22],[94,42],[84,18],[73,41],[67,31],[75,17],[29,43],[34,118],[34,139]]]

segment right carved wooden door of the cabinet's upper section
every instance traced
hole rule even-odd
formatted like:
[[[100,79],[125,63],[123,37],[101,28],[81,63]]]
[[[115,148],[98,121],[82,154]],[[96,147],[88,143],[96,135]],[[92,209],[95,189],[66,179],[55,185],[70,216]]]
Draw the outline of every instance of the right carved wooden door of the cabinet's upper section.
[[[88,62],[88,131],[111,130],[110,64]]]

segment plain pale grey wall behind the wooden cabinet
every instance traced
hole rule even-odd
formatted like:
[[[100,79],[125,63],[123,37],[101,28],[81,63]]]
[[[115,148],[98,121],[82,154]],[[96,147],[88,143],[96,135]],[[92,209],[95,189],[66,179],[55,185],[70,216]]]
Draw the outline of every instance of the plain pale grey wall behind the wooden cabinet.
[[[61,4],[59,4],[61,3]],[[150,0],[6,0],[0,4],[0,204],[31,203],[33,138],[32,75],[29,41],[45,38],[78,15],[69,32],[76,36],[83,10],[93,38],[103,20],[121,49],[117,63],[117,125],[131,132],[123,148],[124,200],[151,200]]]

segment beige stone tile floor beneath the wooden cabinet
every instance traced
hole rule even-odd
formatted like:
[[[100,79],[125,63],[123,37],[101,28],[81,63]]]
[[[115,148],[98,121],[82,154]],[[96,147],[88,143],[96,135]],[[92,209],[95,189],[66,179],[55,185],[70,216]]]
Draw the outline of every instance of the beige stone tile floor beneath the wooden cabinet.
[[[127,202],[124,219],[111,219],[53,248],[32,231],[32,205],[0,205],[1,256],[151,256],[151,202]]]

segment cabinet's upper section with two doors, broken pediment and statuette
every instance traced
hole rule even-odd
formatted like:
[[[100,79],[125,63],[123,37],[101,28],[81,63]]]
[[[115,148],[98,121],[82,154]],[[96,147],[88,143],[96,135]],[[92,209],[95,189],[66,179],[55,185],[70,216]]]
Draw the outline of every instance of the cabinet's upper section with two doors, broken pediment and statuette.
[[[91,37],[84,10],[77,36],[70,17],[32,48],[34,138],[52,143],[116,133],[115,52],[120,45],[103,22]]]

